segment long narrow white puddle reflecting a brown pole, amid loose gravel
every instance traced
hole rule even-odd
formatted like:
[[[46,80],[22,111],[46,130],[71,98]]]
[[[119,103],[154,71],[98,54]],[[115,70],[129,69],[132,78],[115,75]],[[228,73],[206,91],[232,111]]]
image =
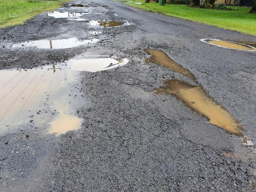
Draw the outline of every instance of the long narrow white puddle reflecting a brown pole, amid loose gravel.
[[[38,41],[29,41],[19,44],[14,44],[13,47],[23,47],[23,46],[35,46],[43,49],[66,49],[76,46],[81,46],[85,44],[91,44],[98,42],[98,39],[86,39],[79,41],[76,38],[70,39],[57,39],[57,40],[38,40]]]

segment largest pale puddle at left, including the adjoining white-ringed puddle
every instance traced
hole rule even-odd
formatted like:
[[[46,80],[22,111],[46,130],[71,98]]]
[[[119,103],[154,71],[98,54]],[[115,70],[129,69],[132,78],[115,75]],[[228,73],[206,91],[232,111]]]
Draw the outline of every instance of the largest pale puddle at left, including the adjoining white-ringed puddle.
[[[83,120],[76,109],[86,99],[78,89],[80,70],[96,72],[126,63],[126,58],[87,56],[30,70],[0,70],[0,132],[28,124],[57,135],[79,129]]]

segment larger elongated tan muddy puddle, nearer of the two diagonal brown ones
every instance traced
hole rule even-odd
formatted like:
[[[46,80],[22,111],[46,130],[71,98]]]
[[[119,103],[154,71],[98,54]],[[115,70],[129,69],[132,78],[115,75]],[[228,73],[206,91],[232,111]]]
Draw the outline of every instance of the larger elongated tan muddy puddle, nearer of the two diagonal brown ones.
[[[234,116],[218,105],[201,86],[194,87],[184,81],[168,80],[166,87],[156,89],[159,94],[170,94],[182,100],[188,107],[208,118],[213,125],[219,126],[229,133],[241,136],[241,124]]]

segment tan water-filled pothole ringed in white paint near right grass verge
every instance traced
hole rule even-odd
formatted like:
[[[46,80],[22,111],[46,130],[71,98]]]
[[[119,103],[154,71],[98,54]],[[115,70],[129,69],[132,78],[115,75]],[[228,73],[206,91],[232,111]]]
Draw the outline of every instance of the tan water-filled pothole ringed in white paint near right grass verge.
[[[232,42],[232,41],[222,41],[218,39],[201,39],[202,42],[206,42],[219,47],[236,49],[236,50],[246,50],[246,51],[256,51],[256,48],[247,44]]]

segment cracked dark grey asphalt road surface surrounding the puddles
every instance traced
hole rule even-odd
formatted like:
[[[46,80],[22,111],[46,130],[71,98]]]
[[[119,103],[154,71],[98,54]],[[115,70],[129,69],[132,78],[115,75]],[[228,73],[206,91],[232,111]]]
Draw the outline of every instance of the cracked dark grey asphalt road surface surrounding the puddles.
[[[193,82],[146,64],[144,51],[163,50],[189,69],[244,125],[244,135],[256,142],[256,53],[200,41],[256,42],[256,37],[120,2],[74,2],[97,6],[92,11],[105,14],[72,21],[44,13],[24,25],[2,29],[0,68],[33,68],[79,55],[127,57],[129,63],[104,72],[81,72],[84,100],[78,115],[84,122],[79,131],[55,137],[45,134],[46,125],[35,130],[24,124],[2,133],[0,191],[256,191],[256,149],[208,124],[176,98],[155,95],[154,88],[166,79]],[[83,10],[69,6],[61,10]],[[127,20],[130,25],[100,28],[89,26],[90,19]],[[52,37],[101,41],[67,50],[10,47]]]

